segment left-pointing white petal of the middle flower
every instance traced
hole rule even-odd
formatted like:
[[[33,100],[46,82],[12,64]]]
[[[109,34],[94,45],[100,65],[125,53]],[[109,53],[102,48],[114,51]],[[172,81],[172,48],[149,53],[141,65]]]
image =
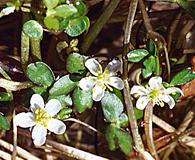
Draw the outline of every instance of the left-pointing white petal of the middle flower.
[[[95,81],[96,81],[96,77],[85,77],[85,78],[82,78],[80,81],[79,81],[79,87],[82,89],[82,90],[89,90],[89,89],[92,89],[93,86],[95,85]]]

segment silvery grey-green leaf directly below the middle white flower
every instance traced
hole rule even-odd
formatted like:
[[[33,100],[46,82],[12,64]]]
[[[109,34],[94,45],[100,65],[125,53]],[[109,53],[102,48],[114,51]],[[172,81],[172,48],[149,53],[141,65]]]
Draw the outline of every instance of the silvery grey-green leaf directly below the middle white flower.
[[[114,93],[106,91],[101,100],[101,105],[106,120],[108,122],[117,122],[124,108],[121,100]]]

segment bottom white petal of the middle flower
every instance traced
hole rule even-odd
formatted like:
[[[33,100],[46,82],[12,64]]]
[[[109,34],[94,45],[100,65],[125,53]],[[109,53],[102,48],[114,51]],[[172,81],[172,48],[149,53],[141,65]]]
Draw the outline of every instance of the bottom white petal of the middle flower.
[[[104,91],[105,89],[103,88],[103,86],[96,84],[93,88],[93,100],[96,102],[100,101],[104,96]]]

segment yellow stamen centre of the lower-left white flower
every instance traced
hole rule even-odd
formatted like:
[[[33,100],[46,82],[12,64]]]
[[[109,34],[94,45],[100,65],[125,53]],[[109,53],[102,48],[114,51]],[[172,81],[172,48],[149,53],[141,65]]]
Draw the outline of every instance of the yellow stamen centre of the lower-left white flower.
[[[49,116],[43,108],[38,108],[35,111],[35,123],[40,123],[44,127],[47,127],[47,123],[51,120],[52,116]]]

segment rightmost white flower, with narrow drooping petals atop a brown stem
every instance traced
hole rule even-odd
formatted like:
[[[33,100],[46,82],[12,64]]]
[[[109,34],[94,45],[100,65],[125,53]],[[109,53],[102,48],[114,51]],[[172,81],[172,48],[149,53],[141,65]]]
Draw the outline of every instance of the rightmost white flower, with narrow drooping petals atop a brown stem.
[[[139,97],[136,107],[140,110],[143,110],[149,101],[153,102],[153,106],[157,104],[161,107],[164,106],[164,102],[168,103],[169,108],[172,109],[175,106],[175,101],[170,94],[176,92],[183,95],[183,92],[177,87],[165,88],[162,84],[162,78],[158,76],[150,78],[146,87],[134,85],[131,89],[131,94]]]

